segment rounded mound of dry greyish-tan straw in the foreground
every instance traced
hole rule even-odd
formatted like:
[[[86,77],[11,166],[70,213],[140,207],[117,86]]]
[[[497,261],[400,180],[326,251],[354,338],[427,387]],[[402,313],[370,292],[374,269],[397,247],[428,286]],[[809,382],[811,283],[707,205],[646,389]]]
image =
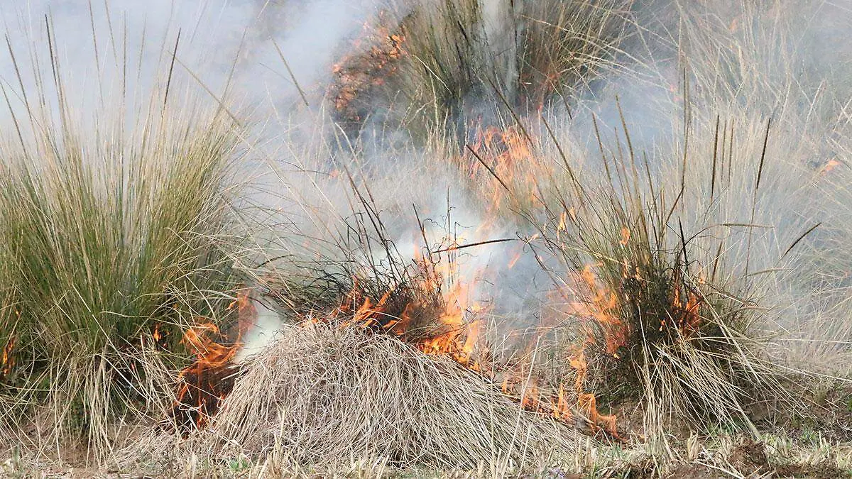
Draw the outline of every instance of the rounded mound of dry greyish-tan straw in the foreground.
[[[212,428],[211,451],[284,453],[302,465],[524,465],[578,441],[453,361],[328,325],[288,327],[248,361]]]

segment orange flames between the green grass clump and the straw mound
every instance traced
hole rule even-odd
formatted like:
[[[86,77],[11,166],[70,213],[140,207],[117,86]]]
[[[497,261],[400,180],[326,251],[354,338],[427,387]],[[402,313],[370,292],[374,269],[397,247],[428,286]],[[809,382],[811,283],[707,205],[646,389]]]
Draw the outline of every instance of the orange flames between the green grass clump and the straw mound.
[[[227,308],[235,309],[238,314],[237,338],[233,342],[228,343],[227,335],[209,321],[187,329],[181,340],[196,358],[177,377],[179,385],[172,416],[183,433],[208,424],[220,402],[233,389],[233,358],[257,312],[248,291],[240,291]]]

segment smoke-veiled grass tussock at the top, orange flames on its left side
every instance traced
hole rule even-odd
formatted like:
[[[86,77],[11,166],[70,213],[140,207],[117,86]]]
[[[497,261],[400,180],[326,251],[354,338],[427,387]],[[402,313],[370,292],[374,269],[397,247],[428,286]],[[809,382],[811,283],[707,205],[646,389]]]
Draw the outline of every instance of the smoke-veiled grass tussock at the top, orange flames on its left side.
[[[496,101],[495,89],[523,111],[554,99],[567,104],[615,65],[630,2],[390,5],[367,21],[351,53],[334,66],[331,100],[355,135],[377,113],[415,136],[441,129],[478,109],[470,103]]]

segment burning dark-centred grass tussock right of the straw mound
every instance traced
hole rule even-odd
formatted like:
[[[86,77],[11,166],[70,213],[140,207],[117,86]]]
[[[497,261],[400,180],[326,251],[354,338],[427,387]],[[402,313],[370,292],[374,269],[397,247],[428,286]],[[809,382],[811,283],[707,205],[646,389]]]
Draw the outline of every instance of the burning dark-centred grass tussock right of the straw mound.
[[[696,238],[722,225],[684,231],[681,203],[696,192],[686,191],[686,180],[655,181],[651,162],[630,155],[604,154],[607,177],[599,182],[565,162],[568,179],[550,185],[555,196],[544,202],[549,222],[540,233],[560,264],[546,268],[578,321],[569,362],[602,401],[640,404],[652,440],[677,424],[757,434],[750,406],[771,398],[789,407],[792,397],[782,379],[789,372],[768,354],[769,320],[755,281],[725,270],[739,264],[726,256],[740,248],[699,248]],[[762,167],[763,157],[755,161]],[[741,200],[755,198],[746,191]],[[751,239],[743,238],[747,257]]]

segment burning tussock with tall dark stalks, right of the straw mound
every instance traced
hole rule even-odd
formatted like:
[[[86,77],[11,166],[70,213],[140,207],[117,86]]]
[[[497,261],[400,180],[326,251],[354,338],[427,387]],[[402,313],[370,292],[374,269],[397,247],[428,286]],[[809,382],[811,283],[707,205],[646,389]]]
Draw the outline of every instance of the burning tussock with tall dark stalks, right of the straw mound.
[[[757,436],[753,403],[801,409],[801,398],[785,385],[795,374],[770,354],[772,334],[780,334],[764,306],[771,303],[759,294],[759,278],[747,276],[772,268],[769,262],[782,255],[751,252],[764,243],[752,244],[747,234],[722,235],[722,224],[740,223],[747,231],[757,223],[747,216],[750,206],[777,188],[768,186],[762,148],[768,133],[744,140],[748,149],[740,152],[757,151],[737,158],[740,174],[719,180],[717,164],[734,159],[717,158],[713,144],[721,140],[712,131],[711,141],[702,141],[688,130],[688,141],[699,147],[668,153],[671,158],[649,153],[640,159],[629,136],[610,147],[598,136],[599,164],[574,162],[563,153],[568,147],[557,148],[562,177],[542,176],[543,206],[527,212],[544,240],[542,265],[571,318],[566,327],[578,332],[565,346],[564,355],[574,358],[566,369],[582,370],[585,387],[604,403],[638,403],[642,435],[663,445],[664,455],[666,438],[683,424],[703,432],[743,428]],[[718,199],[722,188],[730,205]],[[728,209],[717,211],[719,205]],[[780,226],[783,248],[795,245],[790,229],[800,236],[807,231]],[[750,258],[751,269],[743,266]]]

